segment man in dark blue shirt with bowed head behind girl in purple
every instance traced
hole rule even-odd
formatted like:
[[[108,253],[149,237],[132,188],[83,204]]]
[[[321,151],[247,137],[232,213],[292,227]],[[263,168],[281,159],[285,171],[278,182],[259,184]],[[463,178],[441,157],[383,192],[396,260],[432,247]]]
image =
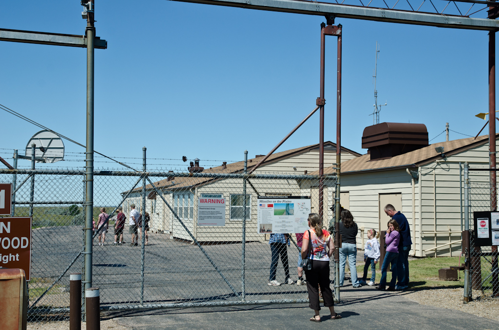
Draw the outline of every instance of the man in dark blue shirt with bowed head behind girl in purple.
[[[411,251],[411,229],[409,222],[404,214],[397,212],[392,204],[385,206],[385,213],[399,224],[400,227],[400,243],[399,243],[399,259],[397,261],[397,285],[396,290],[404,290],[409,285],[409,251]]]

